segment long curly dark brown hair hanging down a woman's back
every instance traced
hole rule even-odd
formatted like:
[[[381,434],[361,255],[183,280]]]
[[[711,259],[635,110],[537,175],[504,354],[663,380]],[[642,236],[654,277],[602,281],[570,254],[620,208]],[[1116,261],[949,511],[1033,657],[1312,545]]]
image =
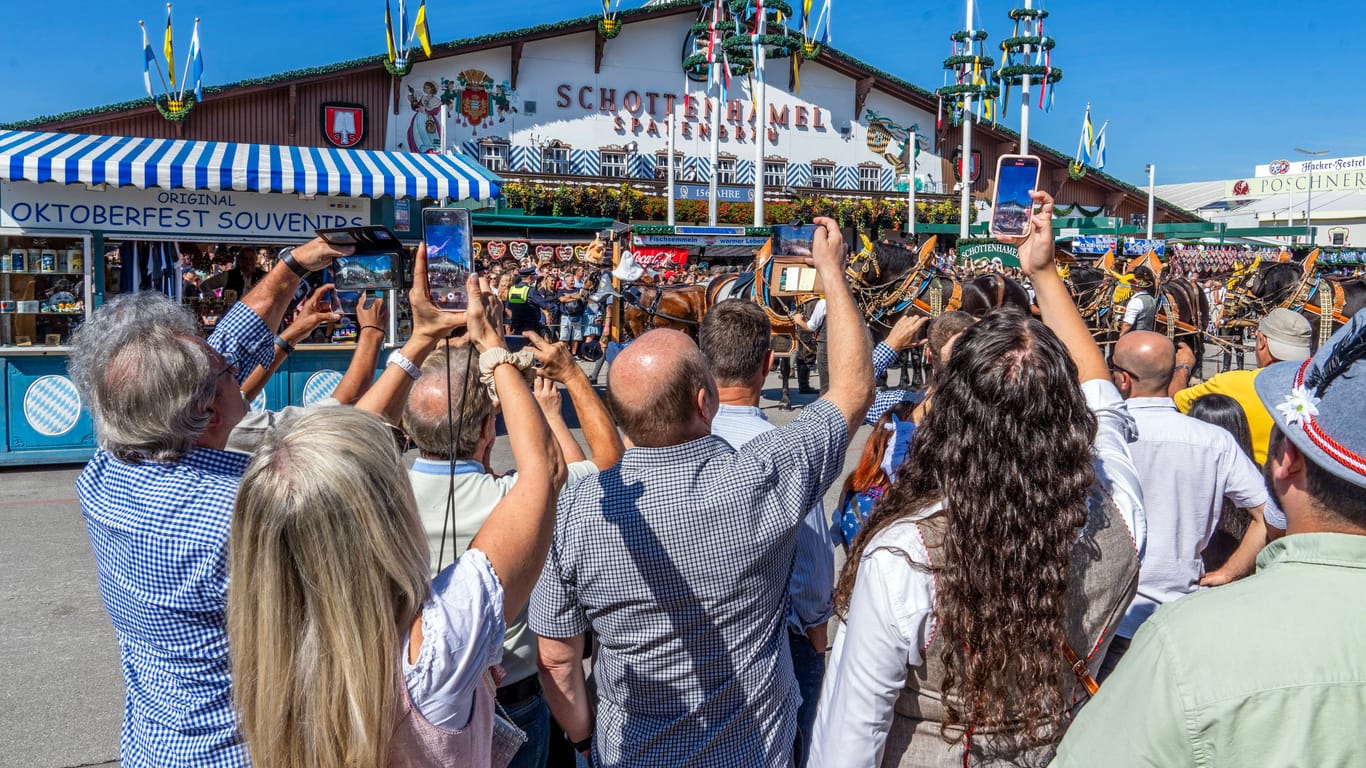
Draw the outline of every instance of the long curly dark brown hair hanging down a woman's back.
[[[869,541],[944,502],[943,562],[929,567],[945,641],[945,741],[951,727],[1005,731],[1022,746],[1063,731],[1065,593],[1096,482],[1094,439],[1063,343],[1038,320],[994,312],[959,338],[911,461],[854,541],[836,588],[840,616]]]

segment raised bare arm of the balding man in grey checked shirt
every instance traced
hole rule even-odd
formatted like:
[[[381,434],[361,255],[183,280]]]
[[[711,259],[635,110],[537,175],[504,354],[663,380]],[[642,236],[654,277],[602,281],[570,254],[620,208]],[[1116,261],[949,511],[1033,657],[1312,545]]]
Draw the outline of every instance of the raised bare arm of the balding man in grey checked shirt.
[[[811,243],[811,264],[825,286],[825,323],[829,335],[831,388],[821,398],[844,414],[848,433],[854,435],[867,406],[873,403],[873,342],[863,314],[854,302],[844,277],[844,236],[833,219],[818,217]]]

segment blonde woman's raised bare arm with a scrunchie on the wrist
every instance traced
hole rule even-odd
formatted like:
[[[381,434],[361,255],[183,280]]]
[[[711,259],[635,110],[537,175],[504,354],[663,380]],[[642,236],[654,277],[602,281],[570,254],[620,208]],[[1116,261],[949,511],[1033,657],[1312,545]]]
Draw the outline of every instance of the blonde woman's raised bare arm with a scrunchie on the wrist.
[[[482,372],[489,365],[485,358],[499,357],[496,351],[488,353],[501,350],[507,355],[501,324],[489,321],[499,317],[503,305],[493,294],[479,291],[473,276],[469,286],[470,342],[479,351]],[[503,582],[504,615],[515,616],[530,600],[545,566],[555,532],[555,503],[564,486],[566,469],[560,447],[522,372],[511,362],[492,365],[493,385],[518,473],[512,489],[489,512],[470,548],[484,552],[493,564],[493,573]]]

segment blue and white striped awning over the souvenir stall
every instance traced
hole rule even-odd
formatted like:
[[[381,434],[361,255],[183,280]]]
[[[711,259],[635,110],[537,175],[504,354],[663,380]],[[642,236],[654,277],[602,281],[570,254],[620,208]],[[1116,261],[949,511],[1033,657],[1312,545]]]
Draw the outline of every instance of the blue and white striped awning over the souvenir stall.
[[[503,183],[463,154],[0,130],[0,178],[163,190],[488,200]]]

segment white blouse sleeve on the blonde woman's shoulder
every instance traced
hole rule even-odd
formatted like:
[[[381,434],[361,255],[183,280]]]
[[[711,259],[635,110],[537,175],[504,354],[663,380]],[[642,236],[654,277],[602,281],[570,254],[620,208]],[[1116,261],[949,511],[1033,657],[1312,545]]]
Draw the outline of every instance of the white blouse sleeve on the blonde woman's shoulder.
[[[503,660],[505,630],[503,585],[484,552],[467,549],[432,581],[417,664],[403,638],[403,682],[428,722],[449,730],[470,722],[475,686]]]

